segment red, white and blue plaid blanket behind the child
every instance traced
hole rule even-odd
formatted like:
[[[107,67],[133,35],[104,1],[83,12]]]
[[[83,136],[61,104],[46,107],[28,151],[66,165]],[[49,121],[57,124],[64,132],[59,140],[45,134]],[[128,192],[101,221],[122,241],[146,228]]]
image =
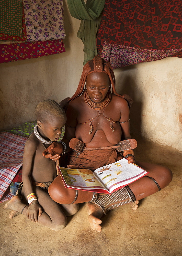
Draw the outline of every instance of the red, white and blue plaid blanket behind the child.
[[[13,197],[7,188],[23,162],[23,151],[27,138],[8,132],[0,133],[0,202]]]

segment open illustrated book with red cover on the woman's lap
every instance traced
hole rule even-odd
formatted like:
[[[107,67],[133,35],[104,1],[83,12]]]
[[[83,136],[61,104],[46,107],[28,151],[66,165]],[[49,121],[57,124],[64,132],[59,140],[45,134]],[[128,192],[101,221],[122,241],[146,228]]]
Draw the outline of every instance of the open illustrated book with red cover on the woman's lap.
[[[111,194],[148,174],[138,165],[128,164],[126,158],[97,168],[94,172],[89,169],[71,169],[61,166],[58,170],[65,188],[104,194]]]

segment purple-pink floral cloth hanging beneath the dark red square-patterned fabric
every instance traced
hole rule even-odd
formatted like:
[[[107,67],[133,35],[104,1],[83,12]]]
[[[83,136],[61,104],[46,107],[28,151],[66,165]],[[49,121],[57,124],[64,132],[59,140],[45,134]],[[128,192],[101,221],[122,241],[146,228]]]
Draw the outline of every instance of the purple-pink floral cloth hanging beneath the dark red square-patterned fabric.
[[[160,60],[172,55],[179,57],[181,51],[182,48],[174,50],[139,49],[104,42],[101,57],[109,61],[112,68],[115,69],[142,62]]]

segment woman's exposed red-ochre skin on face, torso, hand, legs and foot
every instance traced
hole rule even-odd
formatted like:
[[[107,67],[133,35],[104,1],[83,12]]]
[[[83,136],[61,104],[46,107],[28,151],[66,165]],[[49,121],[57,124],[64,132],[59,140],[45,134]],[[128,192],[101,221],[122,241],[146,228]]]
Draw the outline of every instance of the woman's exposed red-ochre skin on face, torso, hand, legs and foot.
[[[104,72],[89,73],[86,80],[86,88],[90,99],[94,103],[103,102],[109,90],[109,76]],[[102,111],[103,109],[99,110],[100,113],[102,113]],[[111,94],[111,100],[104,109],[104,116],[112,118],[114,121],[118,121],[112,124],[115,129],[114,132],[112,132],[111,128],[109,127],[109,121],[103,116],[99,116],[92,122],[93,130],[92,134],[89,134],[89,124],[81,123],[84,123],[91,118],[95,118],[97,115],[98,112],[95,109],[90,108],[85,103],[84,95],[77,97],[72,102],[70,102],[66,112],[66,124],[68,126],[65,126],[65,135],[63,138],[63,141],[67,144],[68,147],[69,141],[75,137],[83,141],[88,148],[113,146],[121,140],[131,138],[129,122],[119,123],[129,120],[129,107],[125,99]],[[70,128],[69,126],[75,128]],[[47,148],[47,150],[43,152],[43,155],[45,157],[50,157],[50,159],[56,160],[60,158],[62,151],[62,146],[54,142],[52,145],[50,145],[50,147]],[[56,156],[56,153],[59,154],[58,157]],[[128,163],[133,161],[134,158],[129,156]],[[143,162],[137,162],[137,165],[148,171],[149,174],[147,174],[147,176],[153,177],[161,189],[165,188],[172,180],[172,172],[167,167]],[[137,201],[158,191],[157,185],[153,182],[153,180],[146,176],[133,182],[129,185],[129,187],[135,195]],[[56,202],[61,204],[70,204],[74,200],[76,192],[73,189],[66,189],[62,183],[61,177],[58,176],[49,187],[49,195]],[[75,203],[88,202],[92,199],[92,197],[93,192],[79,190]],[[93,229],[100,232],[101,227],[99,224],[101,223],[100,217],[102,216],[100,210],[90,210],[89,208],[87,211],[92,217],[93,212],[94,216],[98,216],[96,221],[91,221],[92,224],[90,223],[90,225]],[[95,224],[95,222],[97,224]]]

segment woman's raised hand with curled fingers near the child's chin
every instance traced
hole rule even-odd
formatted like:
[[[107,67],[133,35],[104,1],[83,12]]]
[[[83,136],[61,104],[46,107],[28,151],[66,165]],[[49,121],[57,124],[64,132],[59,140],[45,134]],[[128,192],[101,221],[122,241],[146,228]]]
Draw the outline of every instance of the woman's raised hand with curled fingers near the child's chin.
[[[63,153],[63,145],[54,141],[48,148],[46,148],[42,155],[46,158],[50,158],[54,161],[60,158],[60,155]]]

